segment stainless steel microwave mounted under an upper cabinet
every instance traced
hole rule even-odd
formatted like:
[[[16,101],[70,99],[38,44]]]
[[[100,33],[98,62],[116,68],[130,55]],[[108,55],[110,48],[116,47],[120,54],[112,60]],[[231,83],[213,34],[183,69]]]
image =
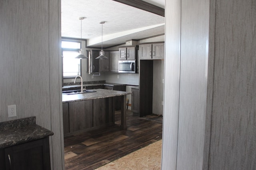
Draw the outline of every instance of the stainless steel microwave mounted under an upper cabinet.
[[[118,61],[118,72],[136,73],[136,60],[120,60]]]

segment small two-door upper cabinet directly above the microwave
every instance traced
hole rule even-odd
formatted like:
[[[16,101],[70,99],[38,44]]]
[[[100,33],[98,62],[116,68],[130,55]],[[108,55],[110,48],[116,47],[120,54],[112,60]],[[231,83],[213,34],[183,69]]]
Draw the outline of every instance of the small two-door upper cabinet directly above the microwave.
[[[138,46],[119,47],[119,60],[136,60]]]

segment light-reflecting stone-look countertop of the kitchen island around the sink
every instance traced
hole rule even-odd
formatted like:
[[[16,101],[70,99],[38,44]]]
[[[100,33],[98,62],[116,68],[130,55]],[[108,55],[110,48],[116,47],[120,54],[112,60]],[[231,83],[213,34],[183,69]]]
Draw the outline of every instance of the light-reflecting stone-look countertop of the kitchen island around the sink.
[[[62,103],[66,102],[76,102],[82,100],[99,99],[99,98],[109,98],[114,96],[124,96],[126,94],[132,94],[131,92],[122,92],[117,90],[106,90],[106,89],[94,89],[96,92],[92,93],[82,93],[82,94],[63,94],[62,93]]]

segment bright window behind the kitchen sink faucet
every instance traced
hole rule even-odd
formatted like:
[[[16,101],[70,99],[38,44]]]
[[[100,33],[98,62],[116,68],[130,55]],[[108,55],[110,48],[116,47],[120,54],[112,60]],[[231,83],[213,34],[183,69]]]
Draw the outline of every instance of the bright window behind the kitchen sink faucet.
[[[79,55],[81,43],[78,41],[62,41],[62,71],[63,78],[74,78],[81,75],[81,60],[75,59]]]

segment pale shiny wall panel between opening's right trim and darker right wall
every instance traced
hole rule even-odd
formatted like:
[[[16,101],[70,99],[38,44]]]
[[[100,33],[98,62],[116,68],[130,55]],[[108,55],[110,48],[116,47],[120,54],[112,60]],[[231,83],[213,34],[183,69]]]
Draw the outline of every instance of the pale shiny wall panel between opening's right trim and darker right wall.
[[[178,170],[188,167],[202,169],[208,78],[208,30],[209,1],[182,0]]]

